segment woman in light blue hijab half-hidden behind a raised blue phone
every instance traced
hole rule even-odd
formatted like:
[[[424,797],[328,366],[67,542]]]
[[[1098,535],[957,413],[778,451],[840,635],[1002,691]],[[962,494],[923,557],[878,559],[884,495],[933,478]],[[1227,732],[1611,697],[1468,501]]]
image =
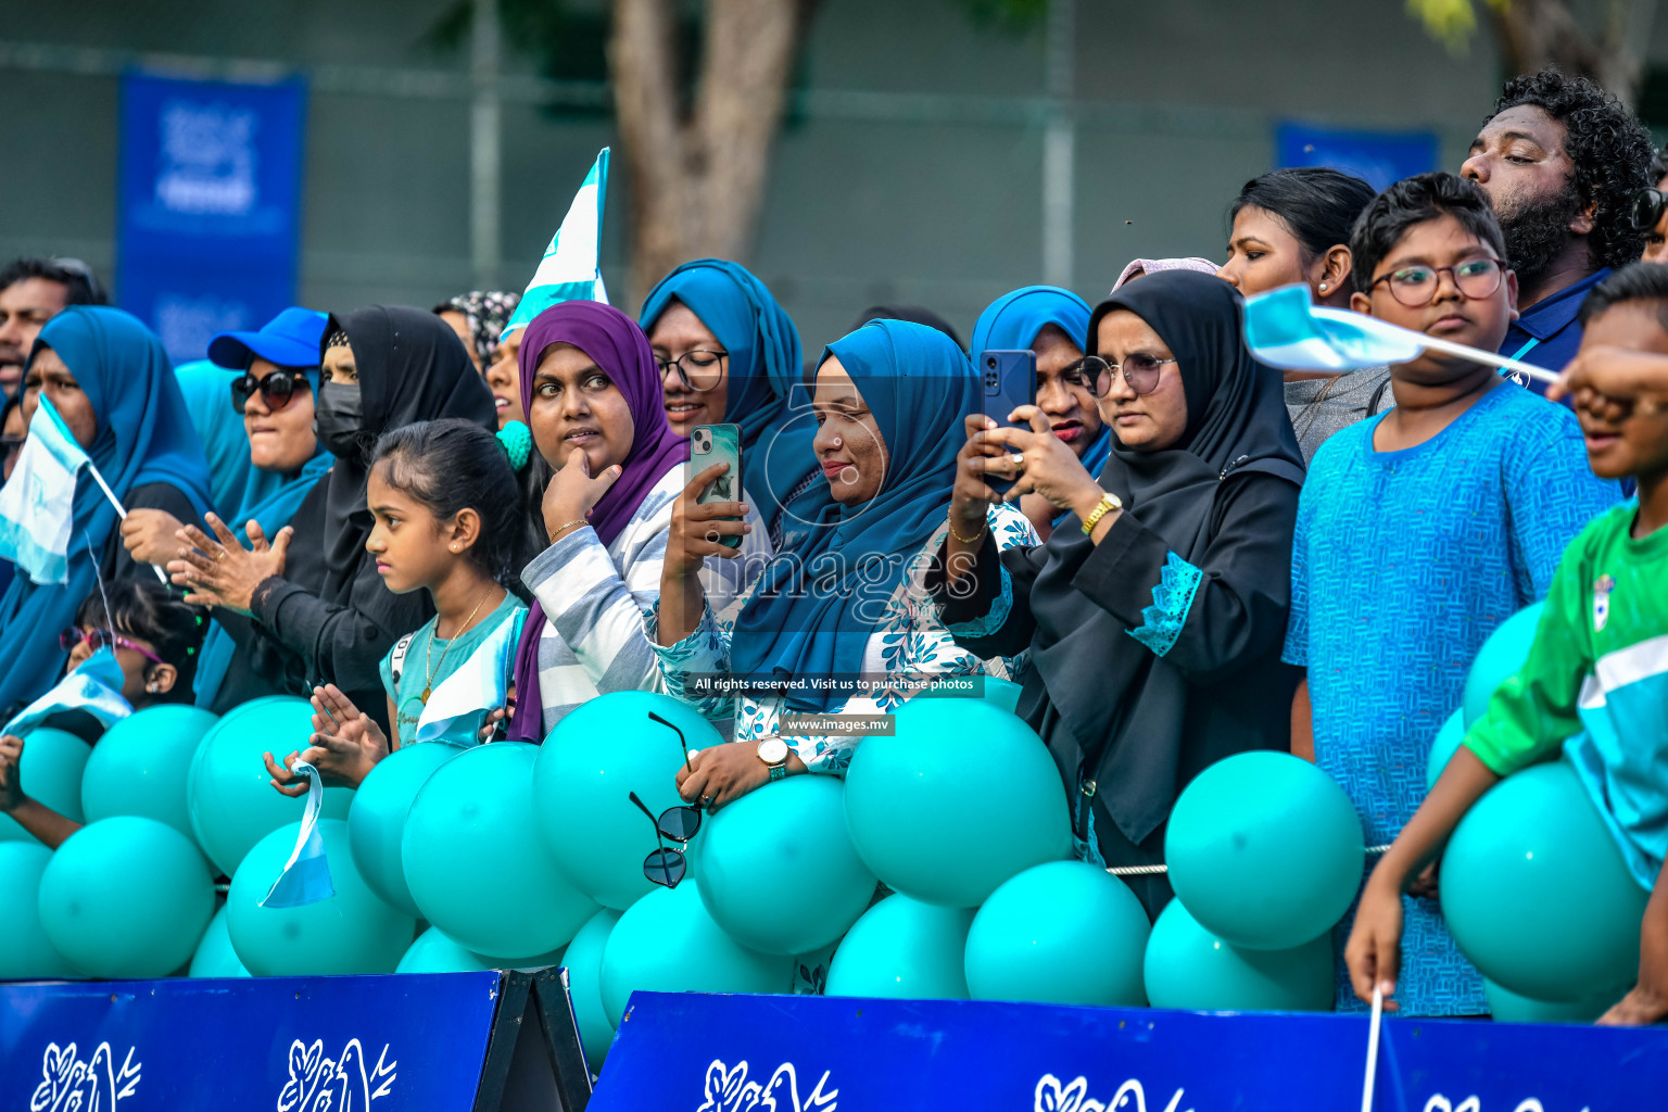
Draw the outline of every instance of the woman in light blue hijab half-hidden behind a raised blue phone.
[[[1071,445],[1091,475],[1099,475],[1113,452],[1113,430],[1101,418],[1101,407],[1078,363],[1089,333],[1089,303],[1058,285],[1027,285],[1004,293],[979,313],[972,327],[972,358],[984,350],[1019,352],[1037,357],[1037,408],[1054,427],[1054,435]],[[999,415],[1006,417],[1006,413]],[[1019,508],[1046,540],[1054,525],[1069,517],[1058,513],[1041,495],[1024,495]]]

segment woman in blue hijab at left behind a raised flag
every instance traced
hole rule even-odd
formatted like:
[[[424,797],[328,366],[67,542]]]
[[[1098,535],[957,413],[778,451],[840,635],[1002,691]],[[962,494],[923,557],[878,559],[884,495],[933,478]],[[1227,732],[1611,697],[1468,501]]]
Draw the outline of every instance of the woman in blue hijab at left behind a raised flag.
[[[197,522],[208,508],[208,462],[162,342],[120,308],[72,305],[47,322],[23,375],[23,415],[52,400],[127,508]],[[98,559],[102,567],[93,565]],[[15,577],[0,597],[0,707],[43,694],[68,657],[57,634],[107,579],[153,575],[122,547],[117,512],[90,475],[75,488],[67,584]]]

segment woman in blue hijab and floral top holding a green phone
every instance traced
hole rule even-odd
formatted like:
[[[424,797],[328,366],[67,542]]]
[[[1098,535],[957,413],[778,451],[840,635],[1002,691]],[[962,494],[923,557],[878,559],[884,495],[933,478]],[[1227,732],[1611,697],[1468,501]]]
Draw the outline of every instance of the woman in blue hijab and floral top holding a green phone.
[[[886,714],[912,692],[832,690],[806,680],[1006,674],[954,645],[921,585],[924,550],[944,538],[956,482],[957,433],[977,410],[972,365],[926,325],[871,320],[822,353],[816,375],[817,432],[811,452],[827,477],[832,510],[797,550],[777,555],[754,587],[714,615],[696,572],[731,548],[707,540],[734,533],[732,503],[672,512],[656,642],[667,689],[707,717],[734,715],[736,744],[696,757],[686,799],[722,807],[774,775],[842,775],[857,744],[849,737],[784,737],[784,712]],[[1007,505],[989,507],[997,547],[1022,547],[1036,533]],[[759,682],[799,680],[779,697],[717,699],[686,692],[694,674]],[[772,767],[774,765],[774,767]]]

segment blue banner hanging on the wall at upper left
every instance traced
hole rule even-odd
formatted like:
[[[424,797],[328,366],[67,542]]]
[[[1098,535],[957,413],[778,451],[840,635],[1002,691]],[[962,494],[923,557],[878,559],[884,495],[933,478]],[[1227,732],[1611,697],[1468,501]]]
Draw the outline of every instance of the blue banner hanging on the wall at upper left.
[[[294,303],[305,87],[122,80],[117,298],[175,362]]]

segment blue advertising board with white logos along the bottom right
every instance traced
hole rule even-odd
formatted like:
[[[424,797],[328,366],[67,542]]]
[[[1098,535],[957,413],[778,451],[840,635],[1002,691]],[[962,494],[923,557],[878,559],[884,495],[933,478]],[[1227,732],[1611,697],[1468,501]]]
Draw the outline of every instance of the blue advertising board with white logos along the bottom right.
[[[590,1112],[1343,1112],[1364,1015],[632,995]],[[1386,1019],[1379,1112],[1668,1107],[1668,1032]]]

